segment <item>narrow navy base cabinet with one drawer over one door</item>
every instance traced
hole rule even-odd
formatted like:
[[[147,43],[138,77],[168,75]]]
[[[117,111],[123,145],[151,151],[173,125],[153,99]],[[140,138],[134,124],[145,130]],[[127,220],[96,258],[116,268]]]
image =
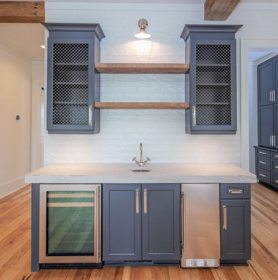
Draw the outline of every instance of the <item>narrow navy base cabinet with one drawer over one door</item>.
[[[251,259],[251,186],[220,184],[221,265]]]

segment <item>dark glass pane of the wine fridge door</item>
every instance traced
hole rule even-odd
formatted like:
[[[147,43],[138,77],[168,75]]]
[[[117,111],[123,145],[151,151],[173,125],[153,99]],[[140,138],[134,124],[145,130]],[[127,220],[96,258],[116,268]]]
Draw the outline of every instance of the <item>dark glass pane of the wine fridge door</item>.
[[[94,255],[94,191],[48,191],[46,255]]]

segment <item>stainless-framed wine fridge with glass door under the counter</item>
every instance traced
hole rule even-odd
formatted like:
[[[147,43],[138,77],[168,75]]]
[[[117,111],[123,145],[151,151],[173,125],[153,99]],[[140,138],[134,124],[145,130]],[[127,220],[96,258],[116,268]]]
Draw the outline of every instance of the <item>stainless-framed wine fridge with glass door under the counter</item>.
[[[101,263],[101,185],[40,184],[40,264]]]

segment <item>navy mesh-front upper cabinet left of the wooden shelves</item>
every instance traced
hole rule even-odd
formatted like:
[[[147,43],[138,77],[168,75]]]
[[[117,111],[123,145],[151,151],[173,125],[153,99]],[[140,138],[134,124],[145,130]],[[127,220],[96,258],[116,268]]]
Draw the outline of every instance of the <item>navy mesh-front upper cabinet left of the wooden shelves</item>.
[[[94,134],[100,130],[99,24],[43,23],[47,40],[48,133]]]

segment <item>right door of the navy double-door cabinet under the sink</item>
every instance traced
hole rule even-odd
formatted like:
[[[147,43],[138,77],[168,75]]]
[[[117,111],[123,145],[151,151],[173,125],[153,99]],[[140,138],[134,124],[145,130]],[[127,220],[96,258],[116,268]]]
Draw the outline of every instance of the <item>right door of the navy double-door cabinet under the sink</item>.
[[[180,259],[180,184],[142,185],[142,260]]]

